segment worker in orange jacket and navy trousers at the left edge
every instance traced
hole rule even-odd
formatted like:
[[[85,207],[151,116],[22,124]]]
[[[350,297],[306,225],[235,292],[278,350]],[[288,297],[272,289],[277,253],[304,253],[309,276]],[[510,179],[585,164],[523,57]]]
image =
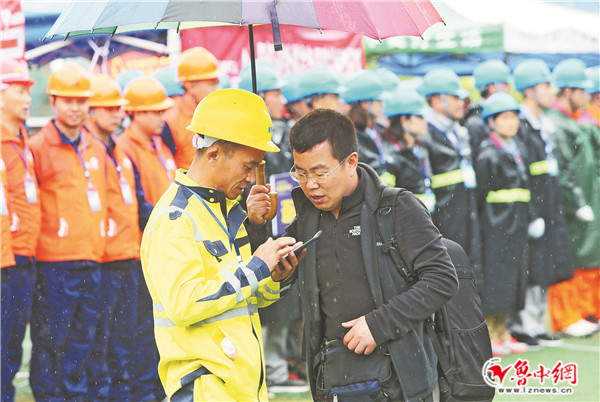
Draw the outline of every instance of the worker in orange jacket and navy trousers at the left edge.
[[[2,398],[14,398],[25,328],[35,289],[35,247],[40,234],[40,203],[25,120],[31,106],[27,65],[2,60]],[[10,210],[10,214],[8,211]],[[6,242],[6,243],[5,243]],[[14,258],[13,258],[14,257]]]

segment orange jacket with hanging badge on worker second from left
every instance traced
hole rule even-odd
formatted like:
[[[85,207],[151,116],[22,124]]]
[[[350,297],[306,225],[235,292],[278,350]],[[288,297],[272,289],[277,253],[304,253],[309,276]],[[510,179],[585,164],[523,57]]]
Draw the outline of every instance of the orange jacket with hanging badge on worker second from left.
[[[104,145],[81,130],[76,151],[61,141],[53,121],[29,142],[42,205],[37,259],[100,262],[106,232]]]

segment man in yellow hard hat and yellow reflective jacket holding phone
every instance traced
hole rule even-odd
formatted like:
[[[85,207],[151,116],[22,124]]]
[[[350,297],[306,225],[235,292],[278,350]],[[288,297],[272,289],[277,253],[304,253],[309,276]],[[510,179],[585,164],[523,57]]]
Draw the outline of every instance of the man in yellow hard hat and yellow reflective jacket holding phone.
[[[265,152],[279,151],[271,118],[259,96],[223,89],[200,102],[188,128],[197,133],[190,169],[177,171],[142,236],[160,378],[171,400],[266,400],[257,307],[279,299],[296,245],[258,245],[247,229],[265,223],[268,188],[253,187],[248,213],[235,199]]]

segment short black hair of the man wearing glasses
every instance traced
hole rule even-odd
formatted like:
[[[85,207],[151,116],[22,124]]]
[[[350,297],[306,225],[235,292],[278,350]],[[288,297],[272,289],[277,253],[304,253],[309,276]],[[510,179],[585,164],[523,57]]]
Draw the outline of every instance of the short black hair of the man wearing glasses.
[[[290,130],[290,148],[300,154],[325,141],[329,141],[333,157],[338,161],[352,152],[358,152],[354,124],[335,110],[313,110]]]

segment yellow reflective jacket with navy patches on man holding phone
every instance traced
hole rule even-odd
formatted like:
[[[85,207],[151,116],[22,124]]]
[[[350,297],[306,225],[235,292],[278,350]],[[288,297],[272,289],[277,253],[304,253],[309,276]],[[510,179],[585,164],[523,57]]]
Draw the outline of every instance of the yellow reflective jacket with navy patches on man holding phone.
[[[256,307],[279,299],[280,288],[251,255],[246,217],[236,201],[199,187],[183,170],[150,216],[141,260],[169,398],[204,367],[232,399],[267,399]],[[242,263],[216,218],[235,239]]]

